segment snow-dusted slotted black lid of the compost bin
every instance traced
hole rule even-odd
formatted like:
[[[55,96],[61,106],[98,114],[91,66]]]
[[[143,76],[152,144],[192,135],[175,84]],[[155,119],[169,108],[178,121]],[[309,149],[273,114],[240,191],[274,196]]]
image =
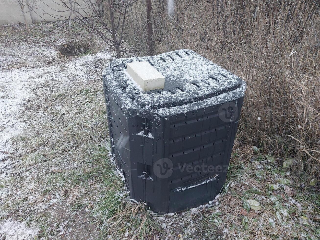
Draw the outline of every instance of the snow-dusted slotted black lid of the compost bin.
[[[141,91],[127,73],[127,63],[147,61],[164,78],[164,89]],[[157,109],[192,103],[241,86],[241,78],[196,52],[181,49],[151,57],[121,58],[110,68],[123,91],[141,107]]]

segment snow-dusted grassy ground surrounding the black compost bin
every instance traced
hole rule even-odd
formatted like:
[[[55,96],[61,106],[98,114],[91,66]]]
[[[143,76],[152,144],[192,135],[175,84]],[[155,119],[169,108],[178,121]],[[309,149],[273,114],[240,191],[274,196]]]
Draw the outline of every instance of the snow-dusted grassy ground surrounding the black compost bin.
[[[97,39],[100,52],[61,56],[90,33],[58,24],[68,26],[0,28],[1,240],[318,238],[316,188],[239,142],[226,189],[208,204],[156,215],[132,201],[108,150],[101,71],[116,54]]]

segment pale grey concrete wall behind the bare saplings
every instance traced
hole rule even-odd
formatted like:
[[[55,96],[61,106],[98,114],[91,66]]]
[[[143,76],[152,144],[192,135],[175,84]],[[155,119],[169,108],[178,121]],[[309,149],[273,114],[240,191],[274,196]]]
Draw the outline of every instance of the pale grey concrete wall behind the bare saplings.
[[[22,1],[22,0],[21,0]],[[25,2],[24,12],[29,24],[41,21],[55,21],[68,19],[70,11],[63,6],[61,0],[23,0]],[[28,2],[27,2],[28,1]],[[69,0],[63,0],[70,4]],[[93,0],[94,4],[96,0]],[[79,11],[84,17],[92,14],[92,7],[89,0],[72,0],[72,8]],[[75,14],[71,15],[74,18]],[[18,0],[0,0],[0,25],[24,23]]]

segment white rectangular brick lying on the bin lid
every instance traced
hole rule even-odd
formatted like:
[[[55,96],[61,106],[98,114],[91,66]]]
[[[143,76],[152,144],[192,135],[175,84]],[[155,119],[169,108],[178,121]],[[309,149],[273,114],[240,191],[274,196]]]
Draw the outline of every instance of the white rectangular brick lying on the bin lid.
[[[164,88],[164,76],[148,62],[129,62],[127,72],[143,91]]]

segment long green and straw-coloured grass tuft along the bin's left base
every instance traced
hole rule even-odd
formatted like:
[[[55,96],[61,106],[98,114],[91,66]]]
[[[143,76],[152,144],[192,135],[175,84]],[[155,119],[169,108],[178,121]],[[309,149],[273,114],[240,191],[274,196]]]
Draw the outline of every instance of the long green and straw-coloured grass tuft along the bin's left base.
[[[130,235],[130,239],[150,239],[160,232],[154,213],[143,203],[133,203],[124,188],[121,177],[115,173],[106,147],[100,147],[91,156],[97,168],[91,171],[95,178],[103,181],[104,198],[94,208],[94,215],[101,219],[101,236]],[[107,166],[107,167],[106,167]]]

